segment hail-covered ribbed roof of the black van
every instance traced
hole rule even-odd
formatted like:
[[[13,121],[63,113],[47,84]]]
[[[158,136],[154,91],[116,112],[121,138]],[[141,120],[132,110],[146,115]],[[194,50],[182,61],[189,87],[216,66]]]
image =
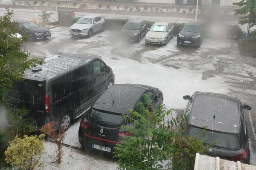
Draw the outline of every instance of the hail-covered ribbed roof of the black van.
[[[69,71],[72,68],[75,68],[79,65],[89,63],[92,59],[96,59],[96,57],[90,55],[61,53],[46,58],[45,63],[43,65],[38,66],[42,68],[41,71],[35,72],[32,69],[29,69],[25,71],[25,75],[27,79],[31,79],[31,77],[50,79],[58,74]]]

